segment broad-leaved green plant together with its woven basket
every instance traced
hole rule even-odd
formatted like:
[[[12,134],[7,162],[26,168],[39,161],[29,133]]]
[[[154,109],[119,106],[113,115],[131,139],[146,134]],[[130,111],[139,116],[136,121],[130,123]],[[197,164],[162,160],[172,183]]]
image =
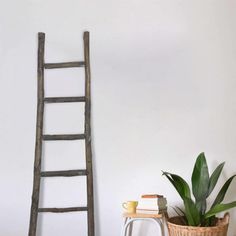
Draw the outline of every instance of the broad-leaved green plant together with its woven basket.
[[[209,175],[205,155],[201,153],[196,159],[192,172],[192,191],[188,183],[182,177],[169,172],[163,172],[163,175],[167,177],[177,190],[184,205],[183,210],[176,208],[176,211],[180,211],[183,216],[168,219],[167,226],[170,236],[227,235],[229,215],[225,214],[224,219],[219,219],[216,217],[216,214],[236,206],[236,201],[226,204],[222,203],[228,187],[236,175],[231,176],[225,182],[213,203],[210,207],[207,206],[207,198],[216,186],[224,164],[223,162],[218,165],[213,173]]]

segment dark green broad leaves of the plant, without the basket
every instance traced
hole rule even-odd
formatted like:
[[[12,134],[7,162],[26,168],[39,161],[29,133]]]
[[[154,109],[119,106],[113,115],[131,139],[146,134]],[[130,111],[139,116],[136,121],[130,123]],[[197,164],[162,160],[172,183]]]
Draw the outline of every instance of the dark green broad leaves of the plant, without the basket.
[[[207,206],[207,198],[212,193],[221,175],[224,162],[216,167],[210,175],[204,153],[200,153],[196,159],[192,172],[192,191],[188,183],[180,176],[169,172],[163,175],[175,187],[184,204],[184,218],[186,224],[190,226],[214,226],[216,224],[216,214],[236,207],[236,201],[222,203],[225,194],[236,175],[231,176],[220,189],[211,206]],[[192,198],[194,197],[194,199]]]

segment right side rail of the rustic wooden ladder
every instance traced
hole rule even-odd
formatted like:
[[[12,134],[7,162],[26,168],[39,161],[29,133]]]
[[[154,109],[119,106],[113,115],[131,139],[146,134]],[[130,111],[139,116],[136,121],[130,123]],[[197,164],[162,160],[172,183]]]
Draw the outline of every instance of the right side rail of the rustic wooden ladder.
[[[89,55],[89,32],[84,32],[84,60],[85,60],[85,151],[87,169],[87,204],[88,204],[88,236],[95,235],[94,227],[94,199],[93,199],[93,167],[91,147],[91,74]]]

